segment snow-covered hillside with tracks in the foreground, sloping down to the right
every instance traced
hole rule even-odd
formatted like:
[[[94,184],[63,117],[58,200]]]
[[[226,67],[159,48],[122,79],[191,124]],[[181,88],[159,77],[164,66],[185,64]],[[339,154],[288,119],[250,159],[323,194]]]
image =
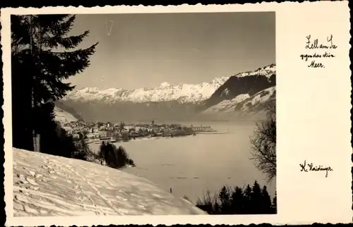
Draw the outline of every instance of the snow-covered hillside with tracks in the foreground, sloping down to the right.
[[[13,149],[14,216],[205,214],[149,180],[99,164]]]

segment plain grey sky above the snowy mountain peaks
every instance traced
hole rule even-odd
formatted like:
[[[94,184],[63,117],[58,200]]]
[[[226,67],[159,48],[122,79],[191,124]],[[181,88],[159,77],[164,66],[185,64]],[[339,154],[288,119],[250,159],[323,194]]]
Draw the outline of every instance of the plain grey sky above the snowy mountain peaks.
[[[76,16],[71,34],[85,30],[80,48],[99,44],[68,80],[76,89],[196,84],[275,63],[274,12]]]

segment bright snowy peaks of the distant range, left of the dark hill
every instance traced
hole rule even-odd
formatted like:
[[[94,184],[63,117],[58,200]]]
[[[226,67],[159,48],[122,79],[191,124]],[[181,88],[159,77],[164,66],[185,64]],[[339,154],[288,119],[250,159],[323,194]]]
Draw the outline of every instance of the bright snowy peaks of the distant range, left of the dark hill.
[[[169,85],[162,82],[160,87],[152,89],[139,88],[136,90],[124,90],[122,88],[109,88],[99,90],[97,87],[85,87],[82,90],[74,90],[66,95],[63,100],[75,100],[80,102],[102,101],[114,102],[165,102],[177,100],[184,102],[199,102],[208,99],[229,76],[215,78],[211,82],[203,82],[198,85]]]

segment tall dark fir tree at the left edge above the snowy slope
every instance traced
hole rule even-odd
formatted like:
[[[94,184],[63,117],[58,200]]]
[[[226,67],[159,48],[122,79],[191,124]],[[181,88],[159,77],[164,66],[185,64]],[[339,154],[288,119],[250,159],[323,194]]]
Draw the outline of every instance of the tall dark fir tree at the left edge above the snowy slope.
[[[76,49],[89,32],[68,35],[74,20],[69,15],[11,16],[13,147],[33,150],[33,133],[46,137],[48,149],[57,139],[50,137],[54,106],[49,103],[73,90],[64,80],[90,65],[97,45]]]

